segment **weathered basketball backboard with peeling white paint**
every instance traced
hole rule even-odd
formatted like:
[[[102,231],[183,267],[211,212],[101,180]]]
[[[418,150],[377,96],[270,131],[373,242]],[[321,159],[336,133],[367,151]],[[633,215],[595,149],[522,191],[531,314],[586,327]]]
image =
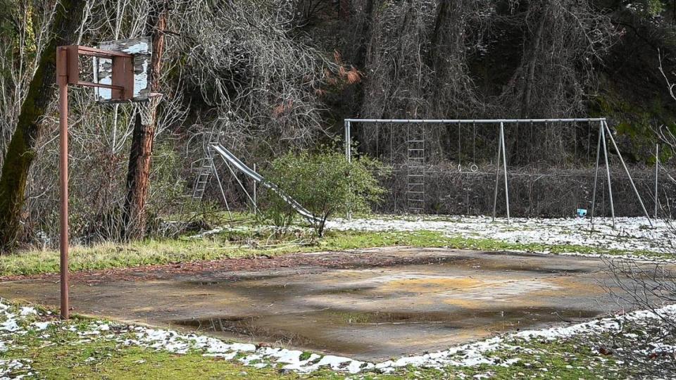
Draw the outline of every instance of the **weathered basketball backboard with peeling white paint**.
[[[118,51],[132,56],[134,69],[134,91],[130,99],[120,99],[113,89],[95,87],[94,94],[99,103],[121,103],[125,101],[147,101],[150,94],[150,63],[152,44],[150,37],[118,39],[101,42],[99,49]],[[94,82],[113,84],[113,60],[111,58],[94,57]]]

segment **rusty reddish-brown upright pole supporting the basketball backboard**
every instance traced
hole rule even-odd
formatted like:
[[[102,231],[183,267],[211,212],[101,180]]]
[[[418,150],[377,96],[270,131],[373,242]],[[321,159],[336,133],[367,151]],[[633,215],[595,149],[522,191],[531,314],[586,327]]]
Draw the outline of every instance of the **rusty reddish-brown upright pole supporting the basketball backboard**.
[[[58,142],[61,169],[61,318],[68,319],[68,54],[56,52],[58,82]]]

